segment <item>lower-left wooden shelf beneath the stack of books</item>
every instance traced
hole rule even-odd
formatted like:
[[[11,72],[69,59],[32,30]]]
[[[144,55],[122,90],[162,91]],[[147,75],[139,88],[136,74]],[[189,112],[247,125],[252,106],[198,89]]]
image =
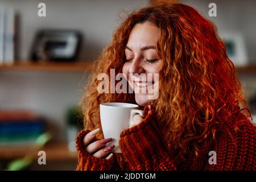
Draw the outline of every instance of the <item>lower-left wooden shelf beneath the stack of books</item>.
[[[43,148],[35,148],[33,146],[1,146],[0,147],[0,159],[12,160],[22,158],[26,155],[34,156],[34,159],[38,159],[39,151],[46,152],[47,160],[51,161],[76,161],[77,152],[71,152],[68,150],[68,146],[65,143],[48,143]]]

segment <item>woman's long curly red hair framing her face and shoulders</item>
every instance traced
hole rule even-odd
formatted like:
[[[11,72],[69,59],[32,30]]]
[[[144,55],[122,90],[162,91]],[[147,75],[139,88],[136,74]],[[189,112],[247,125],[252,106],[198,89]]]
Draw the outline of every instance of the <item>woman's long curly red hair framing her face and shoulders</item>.
[[[101,127],[101,102],[130,102],[134,94],[97,92],[99,73],[110,69],[121,73],[125,47],[137,23],[151,22],[160,28],[156,47],[163,60],[159,72],[159,97],[156,107],[164,140],[176,161],[189,151],[200,153],[200,143],[221,128],[222,123],[251,117],[243,98],[242,86],[225,44],[212,22],[195,9],[181,3],[144,7],[131,13],[114,32],[112,41],[95,61],[93,75],[82,98],[84,126]],[[163,89],[164,88],[164,89]]]

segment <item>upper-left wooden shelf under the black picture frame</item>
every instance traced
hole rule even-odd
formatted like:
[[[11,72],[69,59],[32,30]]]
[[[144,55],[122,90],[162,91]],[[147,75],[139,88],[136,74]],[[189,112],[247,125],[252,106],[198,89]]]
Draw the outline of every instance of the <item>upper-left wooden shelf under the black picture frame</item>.
[[[92,62],[78,61],[74,63],[33,63],[20,61],[12,65],[0,65],[0,71],[55,71],[55,72],[85,72],[91,71]]]

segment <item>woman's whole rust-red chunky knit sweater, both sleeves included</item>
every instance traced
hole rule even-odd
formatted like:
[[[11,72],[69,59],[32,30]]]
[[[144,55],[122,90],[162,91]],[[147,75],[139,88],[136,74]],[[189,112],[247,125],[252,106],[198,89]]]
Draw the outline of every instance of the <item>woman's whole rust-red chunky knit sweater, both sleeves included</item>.
[[[122,131],[119,147],[122,154],[111,159],[99,159],[86,153],[82,139],[89,133],[83,130],[76,138],[79,152],[77,170],[256,170],[256,127],[249,120],[225,122],[215,139],[205,139],[201,154],[195,158],[193,151],[185,162],[176,165],[167,150],[155,119],[154,112],[144,109],[139,125]],[[238,130],[236,130],[238,128]],[[217,163],[209,164],[209,151],[217,154]]]

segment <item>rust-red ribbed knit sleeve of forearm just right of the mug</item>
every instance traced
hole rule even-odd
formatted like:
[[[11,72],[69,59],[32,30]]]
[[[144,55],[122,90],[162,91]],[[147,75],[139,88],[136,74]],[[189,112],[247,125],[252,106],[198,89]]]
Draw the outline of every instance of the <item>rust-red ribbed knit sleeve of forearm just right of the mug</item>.
[[[176,170],[168,155],[155,117],[155,107],[144,107],[146,116],[141,123],[122,131],[119,140],[123,157],[131,170]]]

